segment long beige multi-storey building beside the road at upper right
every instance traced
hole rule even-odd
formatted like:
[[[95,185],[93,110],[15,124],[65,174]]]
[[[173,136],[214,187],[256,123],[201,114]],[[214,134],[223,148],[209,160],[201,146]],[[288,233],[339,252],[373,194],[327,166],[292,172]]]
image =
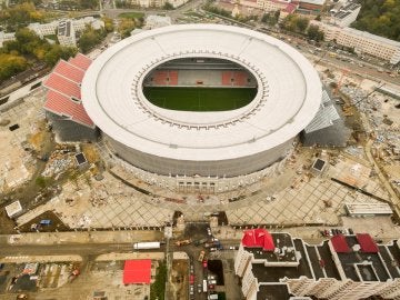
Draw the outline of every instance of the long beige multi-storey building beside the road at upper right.
[[[400,62],[400,42],[389,40],[366,31],[352,28],[340,28],[319,21],[311,21],[324,33],[327,41],[336,41],[338,44],[354,48],[358,53],[387,60],[392,64]]]

